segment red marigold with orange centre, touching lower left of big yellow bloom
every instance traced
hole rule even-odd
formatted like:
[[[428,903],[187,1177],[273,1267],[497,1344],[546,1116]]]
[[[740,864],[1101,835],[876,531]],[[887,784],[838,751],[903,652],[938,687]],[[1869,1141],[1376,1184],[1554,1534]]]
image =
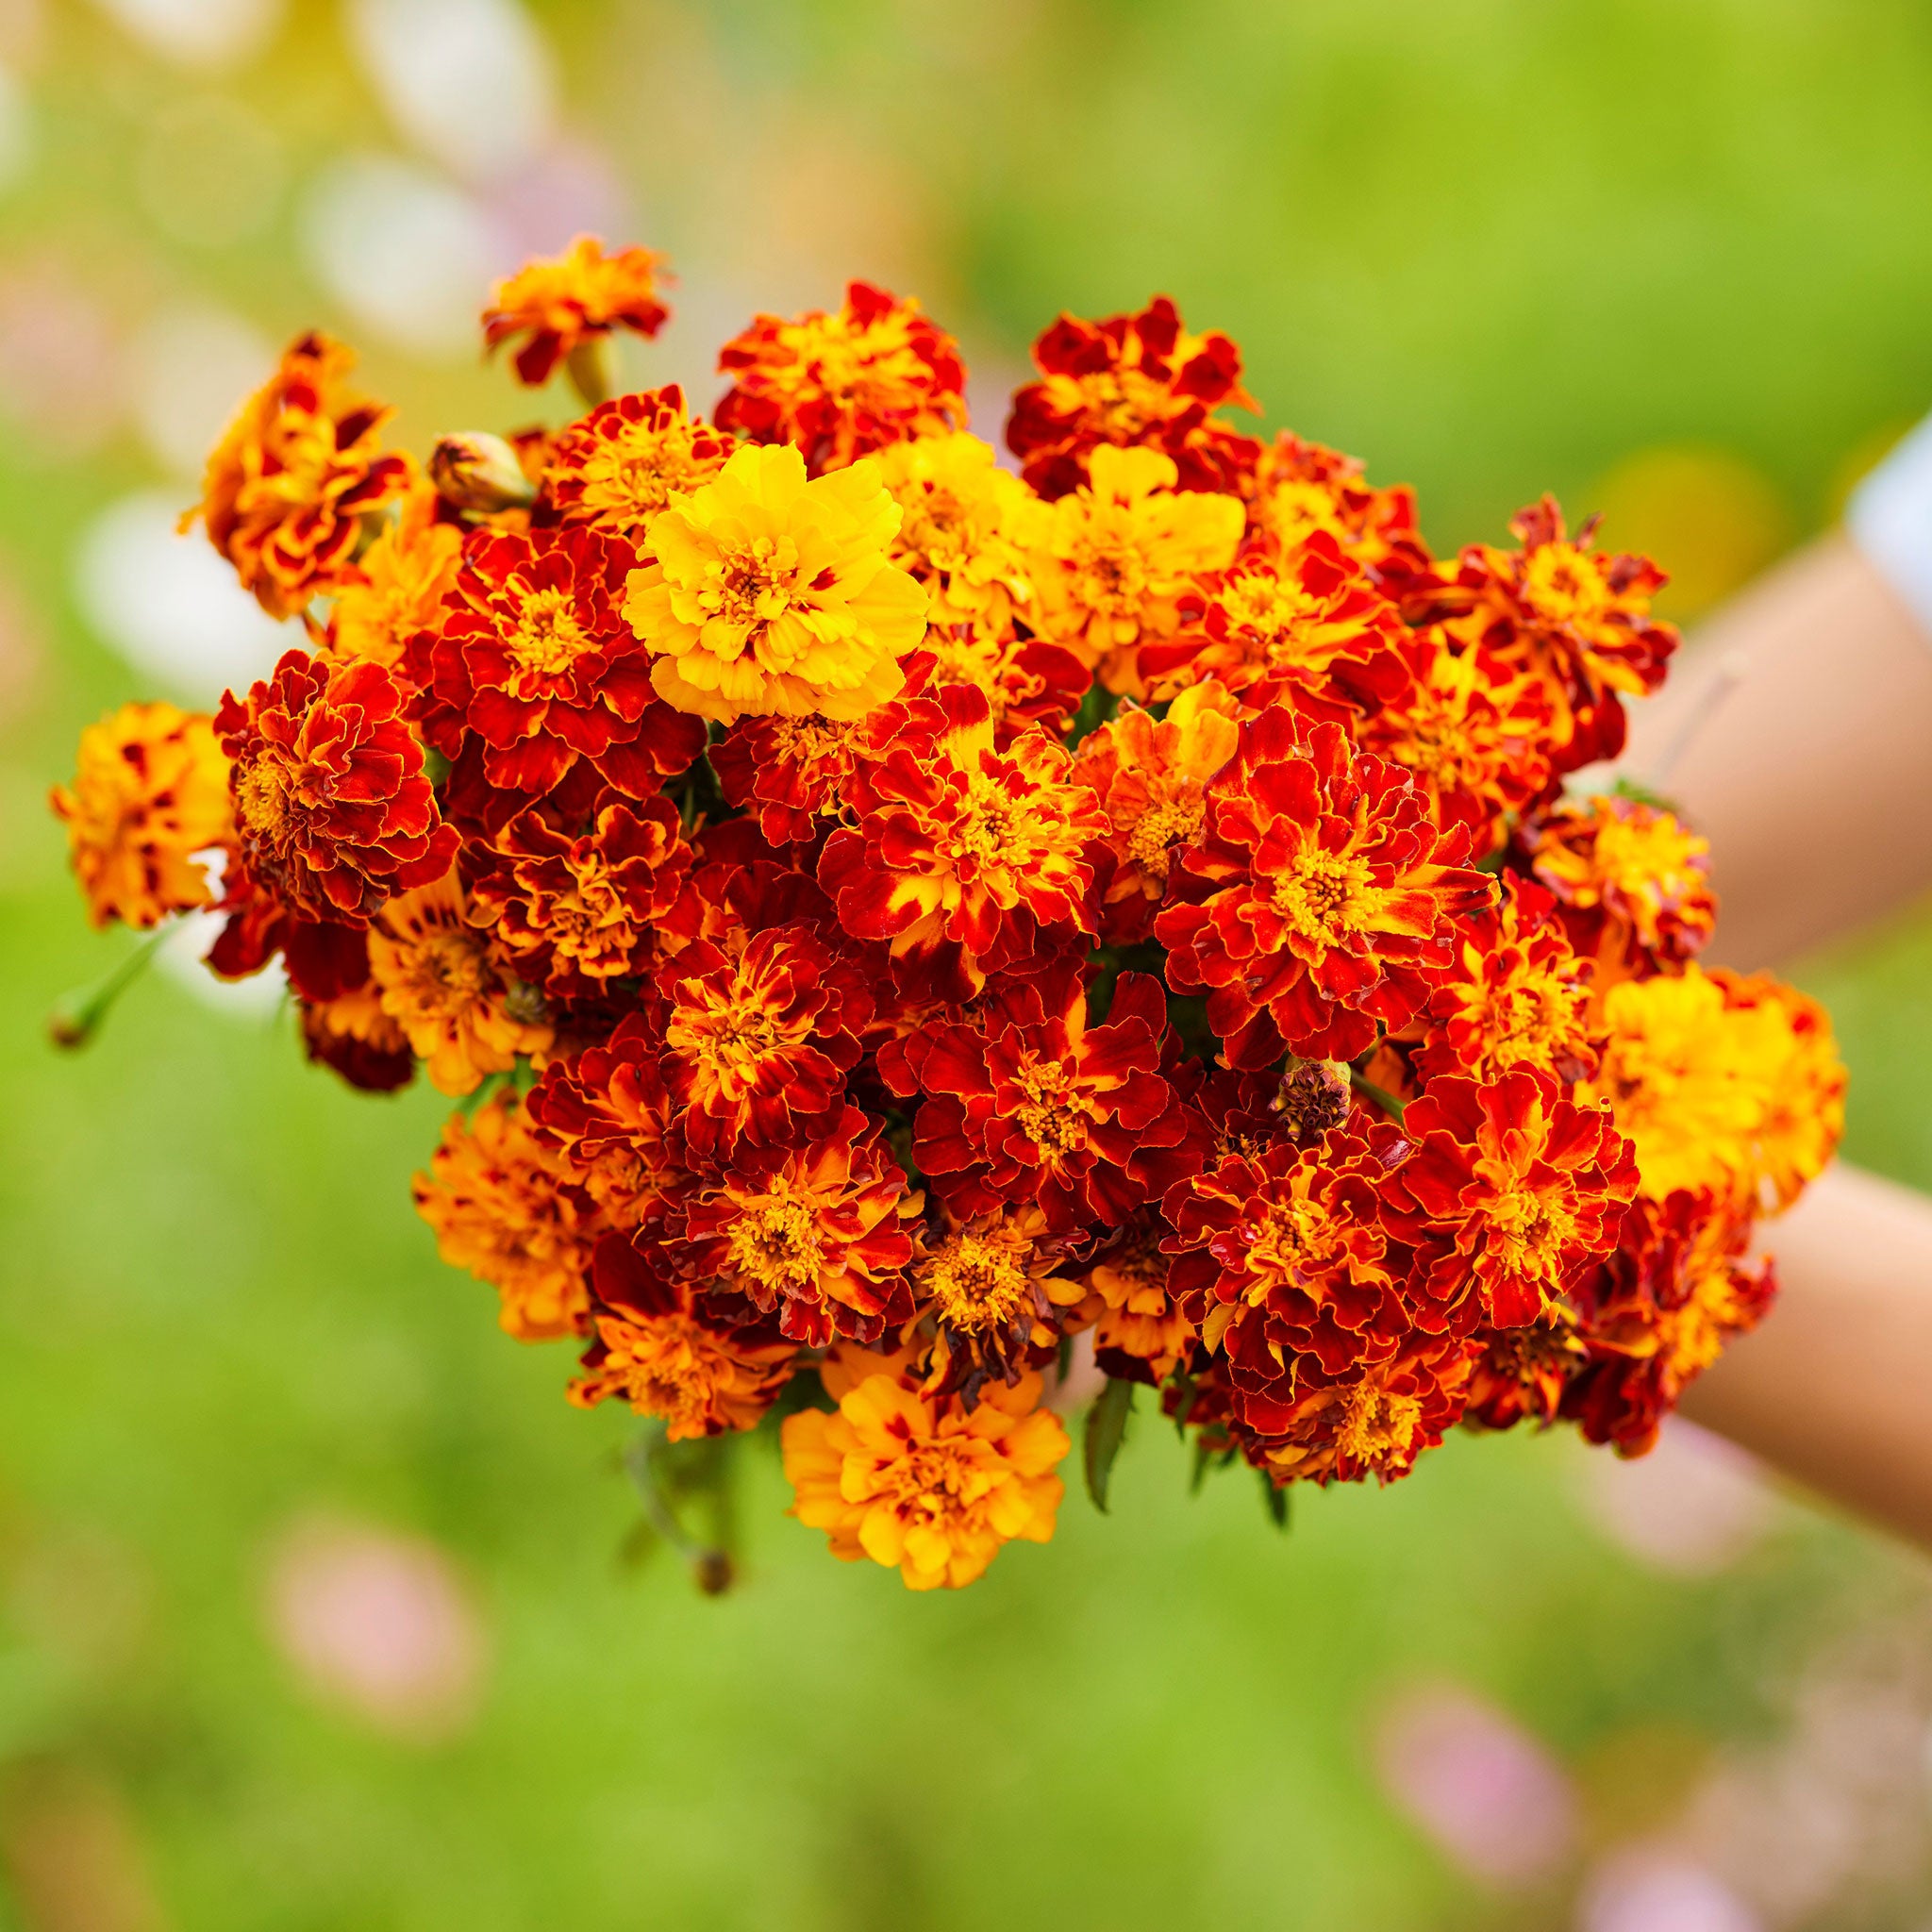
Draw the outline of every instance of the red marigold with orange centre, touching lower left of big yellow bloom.
[[[593,527],[471,535],[440,630],[406,659],[431,744],[454,759],[473,732],[489,784],[531,796],[580,757],[632,798],[684,771],[705,728],[657,699],[651,655],[618,612],[636,562]]]

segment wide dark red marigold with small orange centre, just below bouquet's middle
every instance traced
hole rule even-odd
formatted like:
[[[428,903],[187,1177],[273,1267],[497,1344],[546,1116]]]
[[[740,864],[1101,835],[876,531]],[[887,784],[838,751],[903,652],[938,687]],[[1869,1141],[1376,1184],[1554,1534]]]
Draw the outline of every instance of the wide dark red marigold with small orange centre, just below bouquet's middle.
[[[1159,1184],[1186,1130],[1161,1078],[1167,995],[1121,974],[1113,1009],[1088,1024],[1076,972],[1028,980],[962,1024],[879,1049],[896,1094],[925,1095],[912,1157],[958,1215],[1037,1202],[1059,1233],[1119,1227]]]

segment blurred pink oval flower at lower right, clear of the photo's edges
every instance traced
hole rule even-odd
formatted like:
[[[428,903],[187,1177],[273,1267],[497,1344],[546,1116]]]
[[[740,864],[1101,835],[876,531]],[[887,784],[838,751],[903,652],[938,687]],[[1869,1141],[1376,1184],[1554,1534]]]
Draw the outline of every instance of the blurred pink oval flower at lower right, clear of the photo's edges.
[[[1492,1704],[1455,1685],[1418,1689],[1376,1731],[1389,1795],[1457,1864],[1497,1886],[1557,1870],[1577,1841],[1563,1768]]]

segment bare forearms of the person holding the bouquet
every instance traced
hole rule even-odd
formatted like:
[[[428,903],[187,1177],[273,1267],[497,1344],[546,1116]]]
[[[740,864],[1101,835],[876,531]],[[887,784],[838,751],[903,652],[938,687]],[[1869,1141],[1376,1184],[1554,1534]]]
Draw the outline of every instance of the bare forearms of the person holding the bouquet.
[[[1932,638],[1847,537],[1727,605],[1633,709],[1623,769],[1712,840],[1714,958],[1779,966],[1932,889]],[[1932,1549],[1932,1200],[1839,1163],[1766,1246],[1777,1306],[1685,1414]]]

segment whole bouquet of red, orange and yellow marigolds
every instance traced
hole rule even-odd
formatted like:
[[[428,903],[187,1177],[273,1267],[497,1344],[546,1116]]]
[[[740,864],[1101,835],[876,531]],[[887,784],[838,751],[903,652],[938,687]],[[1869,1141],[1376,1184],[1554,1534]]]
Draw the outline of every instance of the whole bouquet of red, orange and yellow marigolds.
[[[460,1101],[417,1208],[651,1418],[711,1586],[674,1505],[761,1428],[920,1590],[1053,1534],[1082,1406],[1105,1507],[1142,1385],[1277,1520],[1459,1422],[1644,1451],[1845,1086],[1812,1001],[1696,964],[1706,842],[1565,788],[1663,678],[1658,568],[1549,498],[1437,558],[1167,299],[1039,338],[1007,466],[864,282],[728,342],[709,419],[609,394],[661,284],[504,282],[485,342],[587,413],[423,466],[288,348],[193,516],[301,641],[83,734],[95,923],[213,910],[315,1061]]]

